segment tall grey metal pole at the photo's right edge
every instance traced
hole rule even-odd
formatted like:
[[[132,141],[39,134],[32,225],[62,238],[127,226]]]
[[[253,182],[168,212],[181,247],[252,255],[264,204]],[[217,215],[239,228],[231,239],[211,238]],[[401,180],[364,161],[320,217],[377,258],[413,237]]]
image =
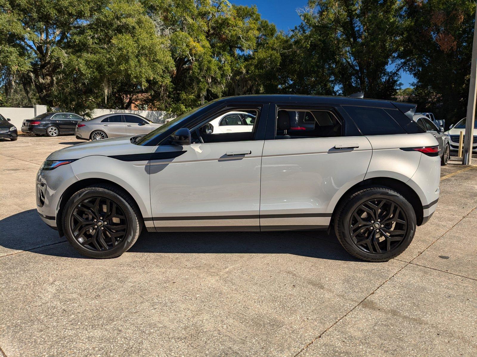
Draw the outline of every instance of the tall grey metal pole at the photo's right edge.
[[[472,41],[472,63],[470,65],[470,84],[469,84],[469,98],[467,100],[467,120],[466,120],[466,134],[464,136],[464,158],[462,164],[470,165],[472,162],[472,142],[474,140],[474,119],[476,112],[476,65],[477,65],[477,6],[476,6],[476,20],[474,24],[474,40]]]

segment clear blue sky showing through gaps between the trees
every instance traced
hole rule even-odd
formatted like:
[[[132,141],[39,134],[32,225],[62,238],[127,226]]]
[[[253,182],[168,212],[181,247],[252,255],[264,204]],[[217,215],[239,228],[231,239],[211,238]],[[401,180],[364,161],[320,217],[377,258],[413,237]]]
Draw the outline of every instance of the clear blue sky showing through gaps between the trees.
[[[262,19],[269,20],[277,26],[278,30],[288,31],[300,23],[297,9],[307,6],[307,0],[231,0],[237,5],[256,5]],[[411,87],[414,77],[409,73],[401,72],[402,88]]]

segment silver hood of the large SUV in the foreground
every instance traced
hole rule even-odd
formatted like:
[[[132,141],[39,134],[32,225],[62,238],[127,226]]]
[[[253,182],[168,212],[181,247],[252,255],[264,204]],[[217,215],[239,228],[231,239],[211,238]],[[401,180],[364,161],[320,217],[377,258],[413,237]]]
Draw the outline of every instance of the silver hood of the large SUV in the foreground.
[[[81,159],[92,155],[124,155],[124,154],[143,154],[151,152],[151,147],[135,145],[131,143],[132,136],[121,136],[117,138],[88,141],[76,144],[65,149],[54,151],[48,156],[47,160],[68,160]]]

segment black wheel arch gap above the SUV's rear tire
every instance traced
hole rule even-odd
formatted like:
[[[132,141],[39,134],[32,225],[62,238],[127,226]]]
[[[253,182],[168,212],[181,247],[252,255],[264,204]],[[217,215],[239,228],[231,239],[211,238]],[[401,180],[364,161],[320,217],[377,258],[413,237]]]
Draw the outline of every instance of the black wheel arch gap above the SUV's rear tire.
[[[394,189],[396,192],[399,192],[405,199],[409,201],[411,206],[414,209],[415,215],[416,215],[416,224],[420,226],[423,222],[423,208],[422,208],[422,201],[419,198],[419,195],[416,193],[416,191],[411,188],[409,185],[407,185],[405,182],[398,180],[396,178],[389,178],[389,177],[373,177],[373,178],[367,178],[363,181],[360,181],[356,184],[354,184],[352,187],[348,188],[340,197],[338,202],[336,203],[335,207],[333,208],[333,213],[332,217],[330,220],[330,226],[328,230],[330,231],[333,222],[334,222],[334,217],[338,211],[338,208],[340,207],[341,203],[343,200],[346,198],[350,197],[355,193],[356,191],[359,191],[363,188],[369,188],[373,186],[384,186],[387,188]]]

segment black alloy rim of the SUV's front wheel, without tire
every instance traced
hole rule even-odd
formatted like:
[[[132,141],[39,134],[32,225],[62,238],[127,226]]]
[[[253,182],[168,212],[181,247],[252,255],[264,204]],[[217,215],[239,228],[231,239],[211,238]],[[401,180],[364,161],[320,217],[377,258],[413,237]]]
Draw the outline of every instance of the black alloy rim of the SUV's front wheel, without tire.
[[[111,199],[88,197],[76,204],[70,227],[74,239],[96,252],[111,250],[127,234],[127,220],[122,209]]]

